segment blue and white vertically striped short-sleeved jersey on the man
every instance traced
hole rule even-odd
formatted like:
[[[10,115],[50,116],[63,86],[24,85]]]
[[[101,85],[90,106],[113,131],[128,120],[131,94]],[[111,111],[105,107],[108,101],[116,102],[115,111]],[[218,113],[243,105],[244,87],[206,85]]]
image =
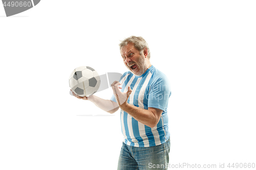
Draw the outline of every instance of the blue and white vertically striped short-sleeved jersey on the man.
[[[163,110],[154,128],[138,122],[121,110],[123,142],[134,147],[153,147],[167,141],[170,136],[167,115],[170,85],[167,77],[152,65],[141,76],[135,76],[131,71],[125,72],[119,82],[122,84],[122,92],[127,92],[129,86],[132,89],[127,103],[143,109],[153,107]],[[116,102],[114,94],[110,100]]]

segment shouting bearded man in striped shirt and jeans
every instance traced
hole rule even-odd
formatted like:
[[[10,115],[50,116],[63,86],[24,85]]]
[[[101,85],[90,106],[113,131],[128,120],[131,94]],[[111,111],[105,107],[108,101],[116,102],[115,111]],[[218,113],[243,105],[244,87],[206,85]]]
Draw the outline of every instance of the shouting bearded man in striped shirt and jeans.
[[[77,98],[89,100],[109,113],[121,109],[124,140],[118,169],[167,169],[169,82],[151,64],[150,49],[142,37],[131,36],[119,46],[123,63],[130,71],[123,74],[120,82],[113,82],[112,98]]]

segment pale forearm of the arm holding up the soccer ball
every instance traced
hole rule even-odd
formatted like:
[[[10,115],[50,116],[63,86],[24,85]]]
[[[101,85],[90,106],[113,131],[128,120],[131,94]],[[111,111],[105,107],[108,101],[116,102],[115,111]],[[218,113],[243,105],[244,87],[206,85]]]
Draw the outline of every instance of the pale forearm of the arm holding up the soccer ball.
[[[96,95],[89,96],[88,100],[94,103],[98,108],[109,113],[114,113],[119,109],[119,106],[117,104],[115,105],[112,101],[101,99]]]

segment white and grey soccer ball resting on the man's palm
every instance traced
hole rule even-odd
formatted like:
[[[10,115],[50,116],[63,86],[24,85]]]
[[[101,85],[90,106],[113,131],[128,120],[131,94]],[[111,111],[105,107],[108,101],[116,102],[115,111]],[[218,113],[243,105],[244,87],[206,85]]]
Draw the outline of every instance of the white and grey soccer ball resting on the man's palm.
[[[100,78],[92,67],[77,67],[69,77],[69,86],[75,94],[88,97],[99,89]]]

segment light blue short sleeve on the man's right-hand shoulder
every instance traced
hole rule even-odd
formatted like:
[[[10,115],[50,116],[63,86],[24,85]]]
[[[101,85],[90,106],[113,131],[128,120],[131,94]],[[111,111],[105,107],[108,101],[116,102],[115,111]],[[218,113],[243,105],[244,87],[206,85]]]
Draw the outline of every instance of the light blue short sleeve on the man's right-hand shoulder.
[[[154,80],[153,80],[154,81]],[[147,107],[153,107],[165,111],[170,97],[170,83],[168,79],[160,77],[150,87]]]

